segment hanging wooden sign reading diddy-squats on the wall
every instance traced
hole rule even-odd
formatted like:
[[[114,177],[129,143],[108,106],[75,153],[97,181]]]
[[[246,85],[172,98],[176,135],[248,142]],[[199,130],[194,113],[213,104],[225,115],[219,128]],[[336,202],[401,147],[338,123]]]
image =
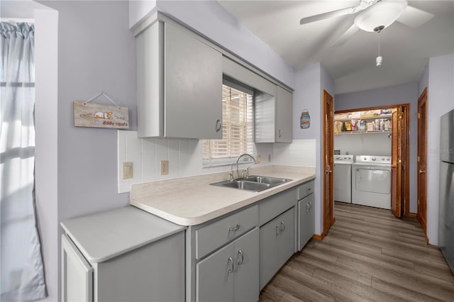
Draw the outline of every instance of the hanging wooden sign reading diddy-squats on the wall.
[[[115,106],[89,104],[100,95],[106,96]],[[129,129],[128,108],[120,107],[103,91],[85,102],[74,101],[74,126]]]

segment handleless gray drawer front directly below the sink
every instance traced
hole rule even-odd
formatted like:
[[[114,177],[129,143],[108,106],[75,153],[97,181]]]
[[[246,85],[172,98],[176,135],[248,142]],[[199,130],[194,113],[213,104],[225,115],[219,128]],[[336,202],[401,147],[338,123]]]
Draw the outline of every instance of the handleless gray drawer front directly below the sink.
[[[279,194],[265,198],[258,206],[259,225],[263,225],[280,213],[297,204],[295,189],[288,189]]]

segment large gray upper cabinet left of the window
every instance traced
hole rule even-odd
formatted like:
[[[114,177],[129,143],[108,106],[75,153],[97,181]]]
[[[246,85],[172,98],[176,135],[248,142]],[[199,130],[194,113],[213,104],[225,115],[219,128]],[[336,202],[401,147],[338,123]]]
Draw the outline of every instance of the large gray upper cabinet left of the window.
[[[135,30],[138,136],[222,138],[222,55],[171,21]]]

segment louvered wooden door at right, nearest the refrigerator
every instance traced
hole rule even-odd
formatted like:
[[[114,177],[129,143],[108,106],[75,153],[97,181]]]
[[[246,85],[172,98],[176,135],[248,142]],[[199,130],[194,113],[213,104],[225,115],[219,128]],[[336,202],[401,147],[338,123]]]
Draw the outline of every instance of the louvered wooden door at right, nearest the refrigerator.
[[[417,218],[421,223],[424,235],[426,236],[427,216],[427,87],[418,99],[418,214]]]

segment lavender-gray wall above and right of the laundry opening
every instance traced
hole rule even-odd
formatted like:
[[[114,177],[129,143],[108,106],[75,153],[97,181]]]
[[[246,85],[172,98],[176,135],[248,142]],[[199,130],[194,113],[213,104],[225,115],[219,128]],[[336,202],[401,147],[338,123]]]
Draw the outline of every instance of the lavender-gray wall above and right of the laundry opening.
[[[418,129],[418,84],[410,83],[399,86],[358,91],[350,94],[336,94],[334,110],[350,110],[376,106],[410,104],[410,212],[418,211],[416,197],[416,159],[417,159],[417,129]]]

